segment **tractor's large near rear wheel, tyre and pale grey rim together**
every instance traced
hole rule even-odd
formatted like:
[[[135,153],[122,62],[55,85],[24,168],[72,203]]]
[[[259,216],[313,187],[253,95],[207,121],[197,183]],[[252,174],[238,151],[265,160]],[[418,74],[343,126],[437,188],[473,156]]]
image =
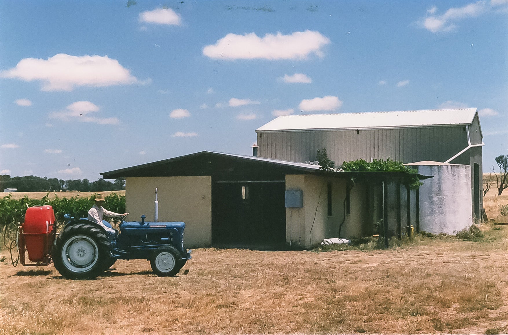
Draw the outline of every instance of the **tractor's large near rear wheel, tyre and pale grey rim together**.
[[[65,227],[56,239],[52,256],[55,269],[68,279],[93,279],[110,261],[105,233],[91,224]]]

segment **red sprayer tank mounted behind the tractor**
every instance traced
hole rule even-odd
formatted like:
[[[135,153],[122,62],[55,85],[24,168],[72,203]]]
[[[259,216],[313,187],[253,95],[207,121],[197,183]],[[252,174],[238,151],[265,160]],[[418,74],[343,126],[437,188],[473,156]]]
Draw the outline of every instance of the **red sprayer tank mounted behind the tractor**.
[[[23,235],[28,258],[33,262],[44,261],[54,241],[55,214],[49,205],[29,207],[23,223]]]

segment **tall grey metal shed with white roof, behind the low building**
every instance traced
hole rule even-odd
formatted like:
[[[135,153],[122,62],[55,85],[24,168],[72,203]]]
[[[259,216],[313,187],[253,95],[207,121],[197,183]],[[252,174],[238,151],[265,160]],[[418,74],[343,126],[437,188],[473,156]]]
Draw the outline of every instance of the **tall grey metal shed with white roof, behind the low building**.
[[[287,115],[256,132],[258,155],[272,159],[312,161],[326,147],[337,164],[391,158],[470,165],[472,213],[481,216],[484,143],[476,108]]]

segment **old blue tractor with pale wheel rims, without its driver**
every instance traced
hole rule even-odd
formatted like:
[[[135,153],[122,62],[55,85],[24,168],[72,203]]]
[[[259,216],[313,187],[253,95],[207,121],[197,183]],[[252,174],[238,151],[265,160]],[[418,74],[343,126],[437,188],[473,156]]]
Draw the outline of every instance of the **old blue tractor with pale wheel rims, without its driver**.
[[[146,259],[155,274],[175,276],[190,259],[183,244],[183,222],[125,221],[118,218],[114,236],[86,218],[66,214],[66,223],[51,248],[55,269],[68,279],[93,279],[117,259]],[[111,227],[107,221],[106,226]]]

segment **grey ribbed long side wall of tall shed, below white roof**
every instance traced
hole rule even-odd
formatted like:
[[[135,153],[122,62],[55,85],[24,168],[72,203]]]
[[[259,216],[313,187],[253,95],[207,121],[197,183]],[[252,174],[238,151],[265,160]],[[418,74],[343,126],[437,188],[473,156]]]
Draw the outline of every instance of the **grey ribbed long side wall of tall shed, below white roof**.
[[[371,157],[407,163],[445,161],[467,146],[467,136],[464,126],[267,131],[258,133],[258,145],[260,157],[295,162],[315,160],[316,151],[326,147],[338,164]]]

